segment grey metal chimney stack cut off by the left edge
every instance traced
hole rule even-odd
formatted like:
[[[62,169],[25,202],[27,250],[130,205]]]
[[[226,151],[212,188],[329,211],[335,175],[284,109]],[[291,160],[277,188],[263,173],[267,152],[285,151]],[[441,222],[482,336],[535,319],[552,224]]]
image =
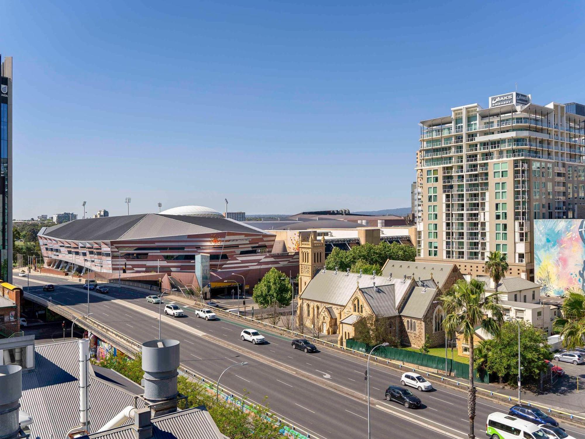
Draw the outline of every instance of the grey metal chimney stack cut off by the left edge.
[[[22,368],[0,366],[0,437],[12,439],[19,436],[18,400],[22,396]]]

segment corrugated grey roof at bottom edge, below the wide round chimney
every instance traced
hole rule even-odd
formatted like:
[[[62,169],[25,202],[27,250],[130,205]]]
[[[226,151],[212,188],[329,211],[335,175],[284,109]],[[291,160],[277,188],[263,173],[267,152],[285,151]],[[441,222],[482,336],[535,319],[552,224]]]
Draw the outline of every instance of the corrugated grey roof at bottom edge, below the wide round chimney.
[[[177,411],[151,420],[153,439],[223,439],[205,407]],[[136,439],[132,425],[112,428],[102,433],[82,436],[81,439]]]

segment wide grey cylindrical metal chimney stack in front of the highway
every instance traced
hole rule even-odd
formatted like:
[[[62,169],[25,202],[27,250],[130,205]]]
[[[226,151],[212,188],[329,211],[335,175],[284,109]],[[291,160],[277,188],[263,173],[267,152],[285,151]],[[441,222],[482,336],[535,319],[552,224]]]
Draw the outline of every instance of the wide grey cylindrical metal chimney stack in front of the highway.
[[[177,411],[177,368],[180,344],[177,340],[151,340],[142,344],[144,400],[154,416]]]

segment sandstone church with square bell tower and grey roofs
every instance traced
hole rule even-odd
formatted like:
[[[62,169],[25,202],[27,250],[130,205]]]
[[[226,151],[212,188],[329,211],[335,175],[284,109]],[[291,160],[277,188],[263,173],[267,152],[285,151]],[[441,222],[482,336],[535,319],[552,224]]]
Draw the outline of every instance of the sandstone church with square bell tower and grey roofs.
[[[370,313],[390,317],[390,331],[402,345],[431,347],[445,343],[445,313],[438,297],[459,279],[455,264],[387,260],[381,273],[325,269],[325,245],[316,232],[301,235],[297,318],[338,334],[338,344],[354,334],[353,324]]]

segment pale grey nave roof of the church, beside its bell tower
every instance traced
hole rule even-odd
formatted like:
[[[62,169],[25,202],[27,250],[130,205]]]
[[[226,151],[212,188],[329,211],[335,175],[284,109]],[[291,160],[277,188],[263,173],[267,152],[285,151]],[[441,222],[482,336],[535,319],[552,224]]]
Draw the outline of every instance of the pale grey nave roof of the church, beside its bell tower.
[[[388,279],[380,276],[359,275],[358,273],[335,272],[334,270],[319,270],[311,279],[301,299],[316,300],[324,303],[345,306],[352,294],[359,287],[371,287],[376,284],[390,284]]]

